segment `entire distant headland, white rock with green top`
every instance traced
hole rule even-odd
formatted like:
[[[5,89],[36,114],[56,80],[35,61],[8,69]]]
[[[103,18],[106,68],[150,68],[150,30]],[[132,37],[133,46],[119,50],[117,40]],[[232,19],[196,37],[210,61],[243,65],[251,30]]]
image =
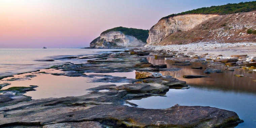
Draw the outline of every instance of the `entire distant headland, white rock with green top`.
[[[90,43],[93,49],[141,47],[147,44],[149,30],[117,27],[106,30]]]

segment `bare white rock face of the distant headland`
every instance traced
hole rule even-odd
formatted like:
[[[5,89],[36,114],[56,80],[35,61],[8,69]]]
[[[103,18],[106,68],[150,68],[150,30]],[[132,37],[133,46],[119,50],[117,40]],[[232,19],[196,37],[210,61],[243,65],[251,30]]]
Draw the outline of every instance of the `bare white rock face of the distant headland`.
[[[134,36],[125,35],[120,31],[110,31],[100,34],[98,38],[90,43],[90,47],[94,49],[110,49],[118,47],[141,47],[146,44]]]

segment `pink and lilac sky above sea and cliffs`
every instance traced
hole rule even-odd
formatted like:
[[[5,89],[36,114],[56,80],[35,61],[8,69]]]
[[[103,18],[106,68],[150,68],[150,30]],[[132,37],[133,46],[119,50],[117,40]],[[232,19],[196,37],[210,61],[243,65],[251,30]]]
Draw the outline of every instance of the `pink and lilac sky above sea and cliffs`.
[[[150,29],[162,17],[252,0],[0,0],[0,48],[88,47],[114,27]]]

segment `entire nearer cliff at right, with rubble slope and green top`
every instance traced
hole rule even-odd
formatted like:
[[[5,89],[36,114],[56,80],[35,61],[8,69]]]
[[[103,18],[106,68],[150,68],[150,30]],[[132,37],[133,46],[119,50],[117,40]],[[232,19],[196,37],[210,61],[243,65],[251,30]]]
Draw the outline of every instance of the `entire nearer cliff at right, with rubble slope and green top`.
[[[256,1],[253,1],[171,14],[161,18],[150,29],[147,45],[199,41],[255,42],[255,35],[252,35],[256,32],[255,10]]]

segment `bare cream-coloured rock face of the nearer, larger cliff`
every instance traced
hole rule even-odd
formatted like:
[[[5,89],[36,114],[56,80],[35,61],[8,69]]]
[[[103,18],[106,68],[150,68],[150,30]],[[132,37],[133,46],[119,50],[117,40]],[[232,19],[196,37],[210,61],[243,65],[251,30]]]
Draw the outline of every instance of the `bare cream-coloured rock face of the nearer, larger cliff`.
[[[149,30],[147,45],[157,44],[174,32],[188,31],[203,21],[216,16],[218,15],[186,14],[162,19]]]

